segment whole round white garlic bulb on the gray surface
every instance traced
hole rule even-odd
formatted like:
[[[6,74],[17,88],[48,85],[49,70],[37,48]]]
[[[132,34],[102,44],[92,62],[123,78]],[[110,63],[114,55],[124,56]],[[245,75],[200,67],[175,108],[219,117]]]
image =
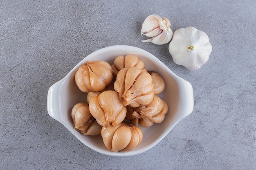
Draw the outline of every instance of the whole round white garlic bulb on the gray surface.
[[[209,60],[212,51],[206,33],[193,26],[177,29],[169,44],[173,62],[185,66],[190,71],[198,70]]]

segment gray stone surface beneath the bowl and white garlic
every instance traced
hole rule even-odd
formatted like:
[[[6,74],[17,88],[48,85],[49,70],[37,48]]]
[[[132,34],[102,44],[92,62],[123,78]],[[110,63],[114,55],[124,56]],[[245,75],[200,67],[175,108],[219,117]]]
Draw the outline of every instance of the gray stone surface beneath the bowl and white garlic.
[[[1,170],[256,170],[256,1],[0,0]],[[168,44],[141,42],[156,13],[173,31],[194,26],[213,51],[198,71]],[[47,113],[47,91],[86,55],[131,45],[191,82],[194,110],[155,147],[101,155]]]

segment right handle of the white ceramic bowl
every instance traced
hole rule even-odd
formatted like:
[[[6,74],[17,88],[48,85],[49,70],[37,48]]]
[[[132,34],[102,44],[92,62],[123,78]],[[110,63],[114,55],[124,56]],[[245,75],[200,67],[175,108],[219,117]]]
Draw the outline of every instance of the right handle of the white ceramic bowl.
[[[182,79],[180,83],[180,101],[182,102],[182,114],[180,120],[192,113],[194,108],[194,95],[192,85]]]

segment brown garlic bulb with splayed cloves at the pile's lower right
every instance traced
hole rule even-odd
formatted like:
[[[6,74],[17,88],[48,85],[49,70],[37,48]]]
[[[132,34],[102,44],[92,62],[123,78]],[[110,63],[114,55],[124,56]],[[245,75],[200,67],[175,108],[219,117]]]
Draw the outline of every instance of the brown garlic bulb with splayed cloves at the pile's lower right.
[[[164,120],[165,114],[168,111],[168,105],[164,100],[155,95],[150,104],[139,106],[134,108],[134,110],[139,114],[137,117],[140,119],[140,125],[150,127],[153,123],[161,123]],[[135,113],[133,115],[136,116]]]

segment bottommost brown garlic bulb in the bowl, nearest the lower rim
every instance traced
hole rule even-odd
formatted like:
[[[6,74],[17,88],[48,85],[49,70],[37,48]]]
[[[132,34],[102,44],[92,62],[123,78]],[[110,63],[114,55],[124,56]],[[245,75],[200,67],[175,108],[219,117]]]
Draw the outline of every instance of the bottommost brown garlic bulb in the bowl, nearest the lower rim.
[[[132,150],[141,143],[143,138],[140,128],[125,122],[116,126],[103,127],[101,136],[106,148],[113,152]]]

